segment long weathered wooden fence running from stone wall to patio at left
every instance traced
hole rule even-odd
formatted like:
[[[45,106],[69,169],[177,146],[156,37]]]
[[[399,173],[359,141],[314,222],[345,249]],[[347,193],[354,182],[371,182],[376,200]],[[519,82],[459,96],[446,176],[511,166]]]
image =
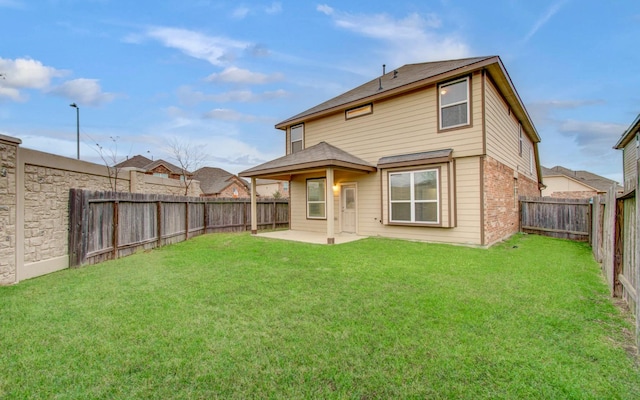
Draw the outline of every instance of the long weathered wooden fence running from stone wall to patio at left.
[[[251,229],[251,203],[71,189],[69,266],[94,264],[212,232]],[[288,200],[259,200],[258,229],[289,226]]]

